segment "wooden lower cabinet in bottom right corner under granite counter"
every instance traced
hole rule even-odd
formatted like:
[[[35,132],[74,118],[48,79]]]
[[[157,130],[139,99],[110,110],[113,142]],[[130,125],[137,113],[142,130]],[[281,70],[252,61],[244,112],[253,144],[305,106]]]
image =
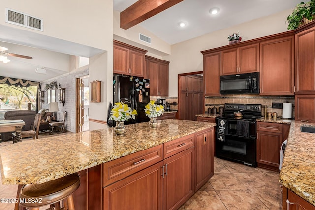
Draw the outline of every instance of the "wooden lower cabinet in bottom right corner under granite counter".
[[[315,210],[315,206],[282,186],[282,210]],[[288,201],[288,203],[287,203]]]

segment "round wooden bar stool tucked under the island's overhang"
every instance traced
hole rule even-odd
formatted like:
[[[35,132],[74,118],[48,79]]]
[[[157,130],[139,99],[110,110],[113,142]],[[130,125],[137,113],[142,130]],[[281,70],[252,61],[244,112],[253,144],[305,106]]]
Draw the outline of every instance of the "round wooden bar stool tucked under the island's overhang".
[[[20,207],[25,210],[39,210],[39,207],[50,205],[50,209],[74,210],[72,193],[80,186],[80,176],[77,173],[51,180],[42,184],[26,184],[19,194]]]

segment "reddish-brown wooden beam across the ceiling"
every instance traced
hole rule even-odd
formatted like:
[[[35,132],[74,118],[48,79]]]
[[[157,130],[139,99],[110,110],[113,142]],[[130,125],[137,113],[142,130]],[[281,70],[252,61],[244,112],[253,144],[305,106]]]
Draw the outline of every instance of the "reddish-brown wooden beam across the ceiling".
[[[129,29],[183,0],[138,0],[120,13],[120,28]]]

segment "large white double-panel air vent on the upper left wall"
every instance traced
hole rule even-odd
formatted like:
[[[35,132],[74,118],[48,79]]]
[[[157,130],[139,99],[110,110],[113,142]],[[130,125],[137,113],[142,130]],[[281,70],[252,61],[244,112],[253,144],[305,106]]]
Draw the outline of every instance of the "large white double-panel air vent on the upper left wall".
[[[43,31],[43,19],[5,8],[5,22]]]

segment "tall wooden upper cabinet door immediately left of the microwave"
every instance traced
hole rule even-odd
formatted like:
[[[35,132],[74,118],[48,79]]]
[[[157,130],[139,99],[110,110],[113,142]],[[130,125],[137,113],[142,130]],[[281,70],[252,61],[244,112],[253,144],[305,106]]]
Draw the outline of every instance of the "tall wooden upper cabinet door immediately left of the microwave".
[[[220,96],[221,52],[209,53],[203,56],[204,94]]]

